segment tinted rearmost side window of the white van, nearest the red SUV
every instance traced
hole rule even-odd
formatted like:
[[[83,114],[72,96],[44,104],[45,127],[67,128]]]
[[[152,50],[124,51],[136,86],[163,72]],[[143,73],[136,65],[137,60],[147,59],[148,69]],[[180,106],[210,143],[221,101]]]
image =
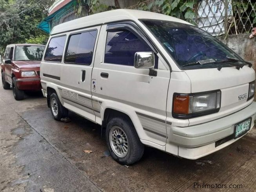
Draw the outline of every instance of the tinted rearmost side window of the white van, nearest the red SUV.
[[[61,62],[66,36],[51,38],[45,51],[44,60],[51,62]]]

